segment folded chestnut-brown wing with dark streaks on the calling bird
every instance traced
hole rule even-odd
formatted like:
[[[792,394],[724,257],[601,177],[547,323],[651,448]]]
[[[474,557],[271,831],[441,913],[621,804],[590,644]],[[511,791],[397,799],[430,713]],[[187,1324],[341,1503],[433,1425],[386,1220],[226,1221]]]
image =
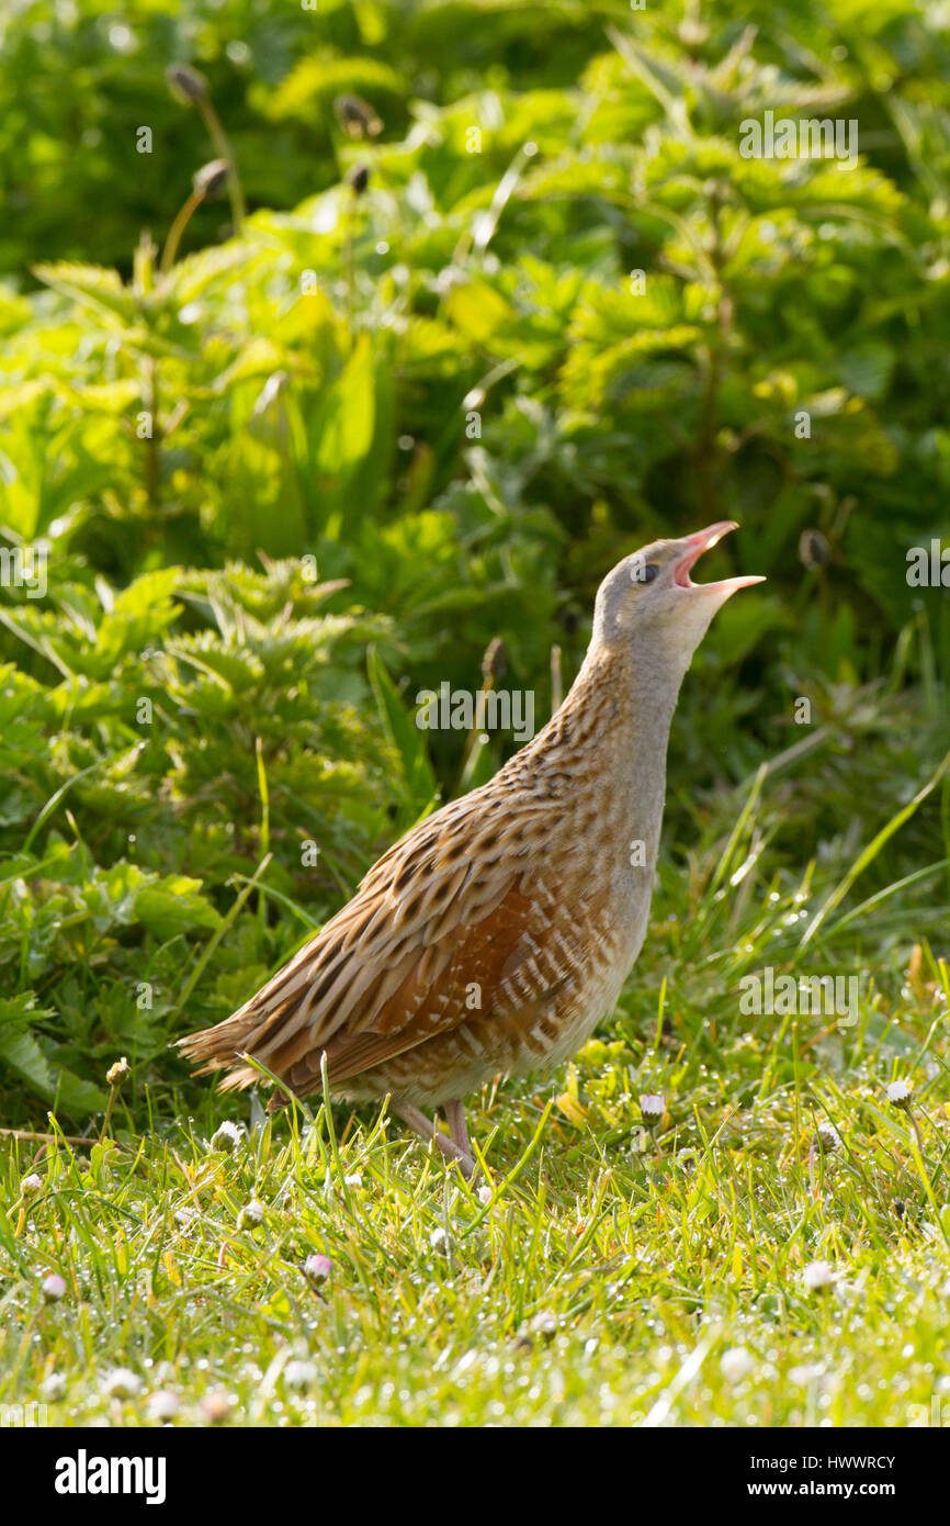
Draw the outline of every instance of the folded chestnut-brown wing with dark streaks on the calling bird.
[[[323,1051],[329,1079],[345,1080],[457,1027],[474,992],[482,1013],[528,1015],[583,954],[579,908],[558,902],[529,852],[532,816],[470,795],[421,823],[284,969],[185,1051],[206,1070],[233,1067],[227,1088],[256,1079],[239,1061],[250,1053],[307,1094]]]

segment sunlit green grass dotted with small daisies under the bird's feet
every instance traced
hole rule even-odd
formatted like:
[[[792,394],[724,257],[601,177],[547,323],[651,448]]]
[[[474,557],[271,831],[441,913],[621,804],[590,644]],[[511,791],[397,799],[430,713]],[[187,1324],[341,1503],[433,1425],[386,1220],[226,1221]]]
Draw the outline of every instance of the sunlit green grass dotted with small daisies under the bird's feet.
[[[59,1425],[927,1424],[948,1386],[950,975],[924,938],[901,964],[901,887],[855,919],[846,876],[765,879],[759,810],[668,874],[575,1062],[476,1099],[471,1187],[384,1112],[253,1102],[212,1148],[210,1093],[143,1135],[119,1102],[93,1149],[9,1143],[0,1401]],[[740,1012],[743,974],[851,974],[869,943],[894,954],[854,1025]],[[665,1099],[653,1129],[643,1094]]]

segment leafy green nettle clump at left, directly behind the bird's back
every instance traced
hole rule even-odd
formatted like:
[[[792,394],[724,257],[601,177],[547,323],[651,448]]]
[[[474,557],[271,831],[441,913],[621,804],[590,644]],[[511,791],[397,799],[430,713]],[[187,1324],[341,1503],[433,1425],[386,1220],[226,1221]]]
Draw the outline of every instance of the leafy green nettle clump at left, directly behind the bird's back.
[[[64,1112],[116,1053],[152,1077],[185,1007],[226,1015],[387,841],[401,755],[364,652],[390,635],[332,591],[287,563],[63,574],[0,612],[0,1067]]]

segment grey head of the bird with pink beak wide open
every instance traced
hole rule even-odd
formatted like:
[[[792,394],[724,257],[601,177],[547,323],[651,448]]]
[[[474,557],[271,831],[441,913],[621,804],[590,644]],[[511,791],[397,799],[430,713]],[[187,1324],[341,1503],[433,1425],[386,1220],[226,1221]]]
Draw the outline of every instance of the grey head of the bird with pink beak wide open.
[[[761,577],[691,580],[703,551],[737,528],[735,520],[721,519],[682,540],[654,540],[618,562],[598,589],[593,641],[605,647],[643,645],[657,656],[668,655],[685,671],[717,609],[737,589],[764,581]]]

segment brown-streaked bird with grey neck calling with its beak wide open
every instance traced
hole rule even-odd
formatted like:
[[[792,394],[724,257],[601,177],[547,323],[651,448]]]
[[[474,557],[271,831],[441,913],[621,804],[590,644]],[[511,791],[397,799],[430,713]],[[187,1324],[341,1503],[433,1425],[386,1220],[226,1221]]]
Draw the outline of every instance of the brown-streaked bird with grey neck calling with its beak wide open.
[[[457,1163],[465,1097],[557,1067],[616,1006],[647,934],[679,691],[715,612],[759,577],[694,583],[720,520],[624,557],[550,720],[479,789],[374,864],[249,1001],[178,1044],[268,1109],[323,1090],[381,1102]],[[424,1109],[442,1114],[448,1132]]]

